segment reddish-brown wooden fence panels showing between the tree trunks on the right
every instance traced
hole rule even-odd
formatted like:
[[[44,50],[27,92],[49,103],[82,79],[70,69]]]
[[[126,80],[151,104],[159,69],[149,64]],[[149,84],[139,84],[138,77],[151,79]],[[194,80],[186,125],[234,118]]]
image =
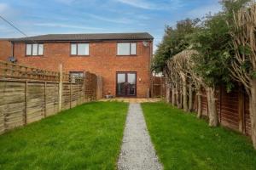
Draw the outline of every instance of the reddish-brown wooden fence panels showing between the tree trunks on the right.
[[[168,90],[169,92],[167,92]],[[170,97],[167,100],[172,102],[172,89],[167,88],[166,94]],[[236,88],[232,92],[227,93],[223,87],[220,87],[215,96],[217,99],[216,106],[220,124],[248,136],[251,135],[249,101],[245,90],[241,86],[236,85]],[[198,101],[195,94],[194,101],[194,110],[197,111]],[[203,116],[208,117],[206,92],[202,94],[201,106]]]

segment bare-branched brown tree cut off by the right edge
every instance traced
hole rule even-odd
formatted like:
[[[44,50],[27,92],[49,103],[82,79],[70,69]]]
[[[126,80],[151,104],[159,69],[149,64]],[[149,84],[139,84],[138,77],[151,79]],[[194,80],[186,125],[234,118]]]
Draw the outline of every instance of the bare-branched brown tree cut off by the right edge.
[[[226,56],[232,77],[244,85],[249,96],[252,139],[256,149],[256,3],[235,13],[233,22],[235,25],[230,34],[235,54]]]

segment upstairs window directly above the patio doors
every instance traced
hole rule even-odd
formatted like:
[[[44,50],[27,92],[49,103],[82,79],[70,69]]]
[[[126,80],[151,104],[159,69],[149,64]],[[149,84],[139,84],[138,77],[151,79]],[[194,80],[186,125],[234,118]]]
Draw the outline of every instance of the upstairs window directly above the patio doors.
[[[122,42],[117,44],[118,55],[136,55],[137,54],[137,43]]]

